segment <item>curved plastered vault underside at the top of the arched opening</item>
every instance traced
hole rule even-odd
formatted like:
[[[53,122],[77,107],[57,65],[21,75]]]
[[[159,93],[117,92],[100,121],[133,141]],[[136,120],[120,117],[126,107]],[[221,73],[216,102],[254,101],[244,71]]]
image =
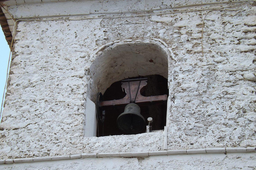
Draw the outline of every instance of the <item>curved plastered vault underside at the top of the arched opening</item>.
[[[90,66],[88,97],[104,93],[114,82],[128,77],[159,74],[168,79],[168,54],[155,43],[123,43],[108,47]]]

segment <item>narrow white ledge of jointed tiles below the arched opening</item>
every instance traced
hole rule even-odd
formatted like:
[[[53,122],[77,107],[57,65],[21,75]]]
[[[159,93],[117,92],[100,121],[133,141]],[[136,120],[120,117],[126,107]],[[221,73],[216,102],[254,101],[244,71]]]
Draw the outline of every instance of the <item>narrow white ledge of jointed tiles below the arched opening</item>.
[[[23,163],[23,162],[39,162],[39,161],[58,161],[68,159],[84,159],[84,158],[104,158],[104,157],[148,157],[158,155],[184,155],[184,154],[207,154],[207,153],[248,153],[255,152],[255,147],[234,147],[234,148],[205,148],[205,149],[180,149],[180,150],[160,150],[160,151],[149,151],[149,152],[117,152],[117,153],[81,153],[72,155],[61,155],[61,156],[45,156],[45,157],[34,157],[34,158],[18,158],[18,159],[0,159],[0,164],[12,164],[12,163]]]

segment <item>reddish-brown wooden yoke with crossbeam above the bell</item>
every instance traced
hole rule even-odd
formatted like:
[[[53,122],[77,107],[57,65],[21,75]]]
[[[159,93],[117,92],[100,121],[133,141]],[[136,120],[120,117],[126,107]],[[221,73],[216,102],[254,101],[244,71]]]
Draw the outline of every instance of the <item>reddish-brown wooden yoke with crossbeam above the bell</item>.
[[[147,85],[147,78],[122,80],[122,88],[126,91],[126,96],[119,100],[99,101],[99,107],[125,105],[129,103],[146,103],[166,101],[167,95],[145,97],[140,94],[142,87]]]

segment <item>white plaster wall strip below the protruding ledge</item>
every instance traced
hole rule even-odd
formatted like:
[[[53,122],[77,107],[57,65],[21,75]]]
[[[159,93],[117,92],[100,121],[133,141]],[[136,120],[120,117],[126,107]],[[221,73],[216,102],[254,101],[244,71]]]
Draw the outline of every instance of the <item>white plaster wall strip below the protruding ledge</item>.
[[[34,162],[0,165],[1,169],[168,169],[212,170],[255,169],[255,154],[168,155],[146,158],[85,158],[67,161]]]

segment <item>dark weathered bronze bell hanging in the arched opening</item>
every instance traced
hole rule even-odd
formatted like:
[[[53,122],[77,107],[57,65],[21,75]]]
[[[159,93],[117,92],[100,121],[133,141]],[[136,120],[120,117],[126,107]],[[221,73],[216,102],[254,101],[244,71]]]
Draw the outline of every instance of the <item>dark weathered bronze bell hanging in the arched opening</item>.
[[[145,119],[140,114],[140,107],[134,103],[125,106],[124,113],[118,116],[117,126],[129,134],[139,133],[145,128]]]

